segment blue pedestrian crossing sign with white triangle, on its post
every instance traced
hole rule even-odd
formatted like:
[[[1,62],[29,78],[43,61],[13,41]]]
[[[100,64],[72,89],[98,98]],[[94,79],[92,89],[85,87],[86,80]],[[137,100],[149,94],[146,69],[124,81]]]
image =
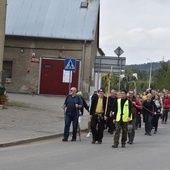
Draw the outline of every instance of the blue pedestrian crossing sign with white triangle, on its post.
[[[68,93],[70,91],[70,88],[71,88],[71,73],[72,71],[75,71],[76,70],[76,59],[65,59],[65,62],[64,62],[64,69],[65,71],[69,71],[69,87],[68,87]]]

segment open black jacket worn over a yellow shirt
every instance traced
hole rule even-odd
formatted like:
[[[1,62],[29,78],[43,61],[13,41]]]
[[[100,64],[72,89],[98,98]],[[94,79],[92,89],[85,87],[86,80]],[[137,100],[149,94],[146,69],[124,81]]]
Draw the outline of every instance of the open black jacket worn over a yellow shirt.
[[[97,107],[97,102],[98,102],[98,98],[99,98],[98,95],[95,95],[95,96],[93,96],[93,98],[92,98],[91,107],[90,107],[90,115],[95,114],[96,107]],[[104,110],[104,112],[105,112],[105,108],[106,108],[106,99],[107,99],[107,97],[104,96],[104,97],[103,97],[103,110]]]

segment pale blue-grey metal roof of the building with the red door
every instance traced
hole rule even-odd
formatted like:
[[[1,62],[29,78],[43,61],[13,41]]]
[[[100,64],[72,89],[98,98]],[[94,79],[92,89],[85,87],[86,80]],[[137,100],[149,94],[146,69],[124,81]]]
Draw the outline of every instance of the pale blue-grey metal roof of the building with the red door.
[[[6,35],[94,40],[100,0],[8,0]]]

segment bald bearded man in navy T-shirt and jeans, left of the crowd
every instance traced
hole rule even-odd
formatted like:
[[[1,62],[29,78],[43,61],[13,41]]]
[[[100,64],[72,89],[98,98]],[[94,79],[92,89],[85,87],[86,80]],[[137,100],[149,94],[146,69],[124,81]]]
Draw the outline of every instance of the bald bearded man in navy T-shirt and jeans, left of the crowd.
[[[76,141],[77,128],[78,128],[78,109],[82,108],[83,102],[79,96],[76,95],[77,89],[72,87],[70,94],[66,97],[63,109],[65,111],[65,127],[63,142],[68,141],[70,124],[73,124],[73,136],[71,141]]]

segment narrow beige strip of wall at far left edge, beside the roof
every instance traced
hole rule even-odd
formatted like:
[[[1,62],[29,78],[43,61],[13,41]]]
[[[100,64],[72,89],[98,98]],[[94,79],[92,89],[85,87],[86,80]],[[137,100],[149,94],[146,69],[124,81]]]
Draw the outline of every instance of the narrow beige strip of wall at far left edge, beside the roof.
[[[0,1],[0,82],[2,77],[2,66],[4,58],[4,44],[5,44],[5,23],[6,23],[6,6],[7,0]]]

